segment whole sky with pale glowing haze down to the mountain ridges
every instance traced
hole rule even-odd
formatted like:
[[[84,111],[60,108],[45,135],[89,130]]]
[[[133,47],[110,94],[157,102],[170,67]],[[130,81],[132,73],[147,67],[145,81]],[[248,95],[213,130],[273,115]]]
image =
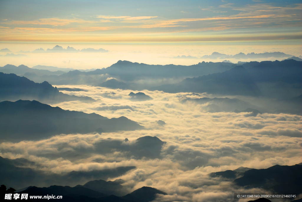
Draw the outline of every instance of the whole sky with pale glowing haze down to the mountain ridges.
[[[2,0],[0,5],[0,50],[10,50],[0,51],[7,56],[0,66],[97,69],[118,60],[192,65],[213,52],[302,55],[301,1]],[[56,45],[108,53],[31,53]],[[178,55],[195,58],[173,58]]]

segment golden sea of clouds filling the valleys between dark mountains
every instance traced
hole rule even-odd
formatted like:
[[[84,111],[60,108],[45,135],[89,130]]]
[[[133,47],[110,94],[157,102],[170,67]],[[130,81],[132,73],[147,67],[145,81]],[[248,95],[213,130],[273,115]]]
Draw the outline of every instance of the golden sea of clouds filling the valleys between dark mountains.
[[[298,115],[264,113],[254,117],[249,113],[209,113],[207,104],[182,103],[181,98],[188,93],[144,90],[152,100],[131,101],[130,90],[87,85],[57,87],[82,88],[86,91],[62,92],[100,101],[70,101],[52,106],[108,118],[125,116],[145,129],[2,142],[0,156],[26,158],[36,163],[33,168],[54,173],[136,166],[118,177],[126,181],[123,185],[130,191],[149,186],[169,194],[160,195],[158,201],[196,202],[234,201],[233,193],[265,193],[260,189],[245,190],[231,180],[212,178],[207,175],[211,172],[302,162],[302,117]],[[158,120],[166,124],[158,124]],[[140,153],[133,145],[143,136],[156,136],[166,143],[162,148],[155,145],[150,154]]]

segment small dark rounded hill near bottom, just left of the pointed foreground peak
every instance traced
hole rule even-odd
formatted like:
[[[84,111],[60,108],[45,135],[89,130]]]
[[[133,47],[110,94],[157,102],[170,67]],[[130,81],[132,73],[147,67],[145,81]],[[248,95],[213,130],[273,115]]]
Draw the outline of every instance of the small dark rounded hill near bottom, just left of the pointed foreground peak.
[[[124,196],[129,193],[123,185],[104,180],[89,181],[84,185],[77,185],[76,187],[85,187],[107,195]]]

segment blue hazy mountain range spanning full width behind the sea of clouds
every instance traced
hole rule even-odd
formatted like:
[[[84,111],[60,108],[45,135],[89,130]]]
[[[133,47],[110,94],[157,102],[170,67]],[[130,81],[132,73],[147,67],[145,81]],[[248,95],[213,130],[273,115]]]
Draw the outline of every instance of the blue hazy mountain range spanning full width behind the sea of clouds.
[[[63,71],[58,70],[52,74],[47,70],[8,65],[0,68],[0,71],[19,75],[23,73],[25,77],[35,82],[47,81],[53,85],[85,84],[132,90],[162,90],[173,93],[207,92],[218,95],[290,98],[301,95],[301,63],[301,61],[288,59],[281,62],[241,63],[240,67],[232,63],[212,62],[202,62],[191,66],[162,66],[118,61],[108,68],[89,72],[74,70],[61,74]],[[60,75],[55,75],[56,73]],[[107,81],[109,77],[117,80]],[[142,79],[145,80],[144,83],[137,83]],[[159,79],[162,81],[155,82]],[[160,85],[164,82],[170,82],[170,84]]]

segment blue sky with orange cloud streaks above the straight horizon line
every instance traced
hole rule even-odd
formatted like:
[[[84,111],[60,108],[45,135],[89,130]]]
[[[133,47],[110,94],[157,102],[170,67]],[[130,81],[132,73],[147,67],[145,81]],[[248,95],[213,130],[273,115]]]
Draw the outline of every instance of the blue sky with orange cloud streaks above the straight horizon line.
[[[301,1],[1,1],[1,41],[301,40]]]

